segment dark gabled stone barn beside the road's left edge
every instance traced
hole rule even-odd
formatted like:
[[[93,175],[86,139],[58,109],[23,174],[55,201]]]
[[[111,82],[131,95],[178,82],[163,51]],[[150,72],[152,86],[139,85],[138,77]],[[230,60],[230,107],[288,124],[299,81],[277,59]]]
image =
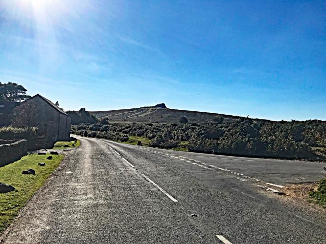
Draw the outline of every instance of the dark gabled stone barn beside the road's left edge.
[[[36,148],[50,148],[57,141],[70,139],[71,119],[61,108],[37,94],[15,107],[12,124],[38,127]]]

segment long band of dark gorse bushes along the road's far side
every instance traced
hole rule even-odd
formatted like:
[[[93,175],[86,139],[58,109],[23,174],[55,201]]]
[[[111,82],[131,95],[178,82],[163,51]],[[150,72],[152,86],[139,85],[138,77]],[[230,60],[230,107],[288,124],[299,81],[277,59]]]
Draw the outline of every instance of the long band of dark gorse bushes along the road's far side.
[[[129,136],[145,137],[152,147],[174,148],[183,143],[189,151],[263,157],[311,158],[311,146],[326,146],[323,121],[243,118],[231,123],[94,123],[71,129],[78,135],[120,142],[128,141]]]

